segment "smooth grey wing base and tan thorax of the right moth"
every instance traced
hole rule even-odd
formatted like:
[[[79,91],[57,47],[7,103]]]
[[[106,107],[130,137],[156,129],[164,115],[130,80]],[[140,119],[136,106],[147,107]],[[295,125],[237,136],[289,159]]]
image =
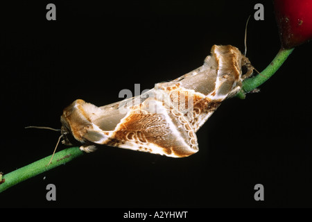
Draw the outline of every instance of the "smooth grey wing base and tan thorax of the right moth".
[[[204,65],[170,83],[180,83],[185,89],[193,89],[214,99],[225,99],[240,80],[243,56],[234,46],[212,46],[211,56]]]

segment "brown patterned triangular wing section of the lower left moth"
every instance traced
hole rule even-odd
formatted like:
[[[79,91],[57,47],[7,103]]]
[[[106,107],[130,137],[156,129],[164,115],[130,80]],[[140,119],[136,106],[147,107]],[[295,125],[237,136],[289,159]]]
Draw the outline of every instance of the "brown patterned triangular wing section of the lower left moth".
[[[105,139],[93,142],[170,157],[186,157],[196,153],[197,137],[187,119],[181,117],[182,114],[179,116],[175,110],[166,108],[155,97],[150,96],[141,104],[130,107],[114,130],[103,130]],[[107,123],[105,117],[101,120],[103,123],[99,125]],[[98,133],[98,130],[93,130],[93,133]]]

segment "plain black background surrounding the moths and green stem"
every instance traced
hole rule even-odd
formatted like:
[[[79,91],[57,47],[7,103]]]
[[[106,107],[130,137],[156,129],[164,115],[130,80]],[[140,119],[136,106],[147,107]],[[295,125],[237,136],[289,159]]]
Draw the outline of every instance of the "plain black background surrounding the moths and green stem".
[[[51,155],[62,110],[119,101],[202,65],[213,44],[244,50],[259,71],[279,51],[271,1],[1,3],[0,171]],[[198,131],[200,151],[174,159],[103,146],[0,194],[1,207],[312,207],[311,43],[247,99],[229,99]],[[60,146],[59,149],[65,148]],[[57,200],[46,200],[53,183]],[[254,200],[254,185],[264,201]]]

